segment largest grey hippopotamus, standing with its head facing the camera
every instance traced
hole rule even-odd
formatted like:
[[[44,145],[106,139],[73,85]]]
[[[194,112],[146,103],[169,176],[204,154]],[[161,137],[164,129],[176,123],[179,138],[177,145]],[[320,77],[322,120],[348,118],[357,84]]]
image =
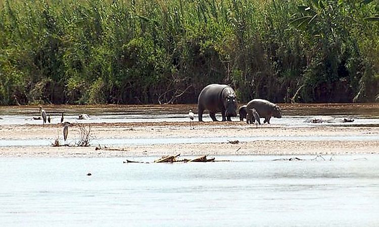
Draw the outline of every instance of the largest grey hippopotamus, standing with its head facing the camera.
[[[199,122],[203,121],[204,110],[209,110],[209,116],[214,122],[216,112],[221,112],[222,121],[231,121],[230,117],[236,117],[236,95],[234,90],[225,84],[210,84],[203,88],[198,98]]]

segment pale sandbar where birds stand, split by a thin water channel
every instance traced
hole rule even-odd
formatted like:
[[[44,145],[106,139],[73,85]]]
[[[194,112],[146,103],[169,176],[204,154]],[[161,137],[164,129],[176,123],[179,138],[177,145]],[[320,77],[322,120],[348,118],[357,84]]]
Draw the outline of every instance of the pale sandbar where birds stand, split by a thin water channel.
[[[192,129],[194,128],[194,129]],[[61,125],[19,125],[0,128],[0,140],[49,140],[62,139]],[[301,155],[301,154],[355,154],[379,153],[378,127],[286,127],[282,125],[264,125],[256,129],[243,122],[194,122],[189,123],[117,123],[92,124],[90,147],[53,147],[53,146],[12,146],[0,147],[0,156],[24,157],[137,157],[160,156],[165,154],[181,155]],[[230,144],[229,137],[309,137],[317,136],[370,136],[365,141],[317,141],[317,140],[260,140]],[[377,137],[376,137],[377,136]],[[191,144],[157,144],[157,145],[119,145],[107,146],[100,144],[102,149],[96,150],[97,140],[101,139],[139,139],[139,138],[194,138],[221,137],[219,143]],[[77,126],[70,127],[69,140],[79,138]]]

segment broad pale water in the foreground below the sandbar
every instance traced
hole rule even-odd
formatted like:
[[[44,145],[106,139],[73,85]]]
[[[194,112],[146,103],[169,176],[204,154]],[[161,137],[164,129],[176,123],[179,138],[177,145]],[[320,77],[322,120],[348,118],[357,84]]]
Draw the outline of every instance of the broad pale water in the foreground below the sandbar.
[[[2,158],[1,225],[377,226],[379,155],[282,157]]]

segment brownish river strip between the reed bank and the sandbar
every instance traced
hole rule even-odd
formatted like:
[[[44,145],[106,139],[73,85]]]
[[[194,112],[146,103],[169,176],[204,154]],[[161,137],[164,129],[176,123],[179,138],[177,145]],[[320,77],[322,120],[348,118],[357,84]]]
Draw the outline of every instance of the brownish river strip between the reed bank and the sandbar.
[[[271,119],[272,124],[286,126],[309,126],[311,120],[321,119],[322,124],[345,125],[379,125],[379,103],[339,103],[339,104],[279,104],[283,118]],[[45,105],[46,113],[51,115],[52,123],[60,123],[61,113],[65,121],[86,123],[129,123],[129,122],[188,122],[189,109],[195,112],[196,104],[176,105]],[[89,120],[78,120],[80,113],[87,113]],[[42,124],[38,117],[38,106],[0,106],[1,125]],[[221,120],[221,115],[216,115]],[[351,117],[353,123],[343,123],[344,118]],[[211,121],[208,113],[204,121]],[[232,118],[239,121],[239,118]],[[313,124],[314,125],[314,124]]]

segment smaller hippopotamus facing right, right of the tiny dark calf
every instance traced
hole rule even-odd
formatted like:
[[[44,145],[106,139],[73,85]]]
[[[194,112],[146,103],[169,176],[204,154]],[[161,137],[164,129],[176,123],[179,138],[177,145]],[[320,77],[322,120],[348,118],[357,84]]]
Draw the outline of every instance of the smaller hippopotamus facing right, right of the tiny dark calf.
[[[281,118],[281,110],[278,105],[265,99],[253,99],[246,104],[246,110],[256,109],[260,118],[264,118],[264,123],[270,124],[271,117]],[[252,116],[252,115],[251,115]]]

